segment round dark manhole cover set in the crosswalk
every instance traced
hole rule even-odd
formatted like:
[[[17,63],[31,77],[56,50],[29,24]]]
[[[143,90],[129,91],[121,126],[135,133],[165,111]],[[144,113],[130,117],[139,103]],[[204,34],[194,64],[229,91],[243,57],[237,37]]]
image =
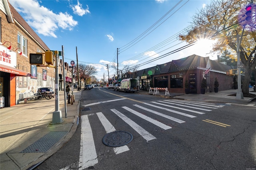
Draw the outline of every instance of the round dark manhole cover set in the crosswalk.
[[[121,147],[132,141],[132,134],[126,131],[114,131],[103,137],[103,143],[109,147]]]

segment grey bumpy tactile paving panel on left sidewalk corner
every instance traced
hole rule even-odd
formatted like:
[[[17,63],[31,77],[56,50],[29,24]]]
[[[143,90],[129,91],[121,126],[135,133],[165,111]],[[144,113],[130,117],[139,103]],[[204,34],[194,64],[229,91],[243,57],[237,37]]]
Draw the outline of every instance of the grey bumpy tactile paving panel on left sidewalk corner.
[[[56,144],[68,132],[51,131],[44,135],[41,139],[22,150],[20,153],[36,153],[47,152],[54,144]]]

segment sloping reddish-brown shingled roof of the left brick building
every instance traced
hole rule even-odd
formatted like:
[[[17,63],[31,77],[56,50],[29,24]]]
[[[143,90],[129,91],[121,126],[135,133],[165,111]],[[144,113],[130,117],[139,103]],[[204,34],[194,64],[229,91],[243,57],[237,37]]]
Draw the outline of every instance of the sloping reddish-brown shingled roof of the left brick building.
[[[20,16],[20,14],[9,3],[13,18],[32,36],[45,50],[50,50],[49,47],[42,41],[42,39],[35,33],[35,31],[28,25],[28,23]]]

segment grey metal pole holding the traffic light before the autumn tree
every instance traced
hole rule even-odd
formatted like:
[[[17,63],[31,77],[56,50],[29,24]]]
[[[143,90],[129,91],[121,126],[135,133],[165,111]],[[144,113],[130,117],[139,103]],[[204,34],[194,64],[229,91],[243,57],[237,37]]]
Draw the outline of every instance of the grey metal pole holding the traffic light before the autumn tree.
[[[241,88],[241,68],[238,66],[238,65],[240,65],[240,43],[242,41],[243,33],[244,33],[244,28],[243,28],[243,31],[242,31],[240,42],[239,42],[239,34],[236,35],[236,41],[237,41],[237,47],[236,47],[236,54],[237,54],[237,88],[238,88],[238,90],[237,90],[238,92],[236,93],[236,99],[244,99],[244,95],[242,93],[242,88]]]

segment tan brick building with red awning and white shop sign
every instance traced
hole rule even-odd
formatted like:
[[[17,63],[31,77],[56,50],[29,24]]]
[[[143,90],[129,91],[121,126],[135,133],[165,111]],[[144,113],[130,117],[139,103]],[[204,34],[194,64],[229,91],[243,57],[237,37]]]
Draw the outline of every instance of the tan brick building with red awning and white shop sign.
[[[54,88],[55,70],[30,65],[30,53],[50,49],[8,0],[0,0],[0,22],[0,96],[2,105],[10,107],[19,104],[26,92]]]

